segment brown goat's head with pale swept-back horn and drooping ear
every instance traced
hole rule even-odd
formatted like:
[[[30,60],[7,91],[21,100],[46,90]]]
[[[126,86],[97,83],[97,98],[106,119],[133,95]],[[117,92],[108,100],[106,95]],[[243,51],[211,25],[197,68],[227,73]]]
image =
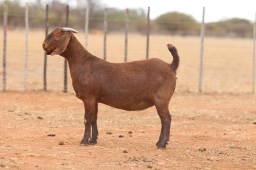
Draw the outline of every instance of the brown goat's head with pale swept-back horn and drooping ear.
[[[54,31],[47,35],[43,42],[43,49],[46,51],[46,54],[53,56],[64,52],[72,37],[70,32],[78,33],[78,31],[70,27],[56,27]]]

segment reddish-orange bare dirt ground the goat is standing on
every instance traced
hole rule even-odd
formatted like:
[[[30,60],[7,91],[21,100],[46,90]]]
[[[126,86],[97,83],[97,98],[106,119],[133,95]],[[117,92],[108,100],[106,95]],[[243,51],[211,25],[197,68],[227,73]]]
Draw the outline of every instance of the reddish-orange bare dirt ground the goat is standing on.
[[[0,169],[256,169],[256,96],[175,93],[165,150],[156,109],[99,105],[99,140],[79,146],[83,103],[73,93],[0,92]]]

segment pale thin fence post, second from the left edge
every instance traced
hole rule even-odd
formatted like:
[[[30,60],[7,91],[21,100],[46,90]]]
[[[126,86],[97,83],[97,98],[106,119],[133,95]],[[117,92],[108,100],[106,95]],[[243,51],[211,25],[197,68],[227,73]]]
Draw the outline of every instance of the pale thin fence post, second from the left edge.
[[[25,91],[27,88],[27,75],[28,75],[28,3],[26,4],[26,12],[25,12],[25,25],[26,25],[26,56],[25,56],[25,70],[24,70],[24,89]]]

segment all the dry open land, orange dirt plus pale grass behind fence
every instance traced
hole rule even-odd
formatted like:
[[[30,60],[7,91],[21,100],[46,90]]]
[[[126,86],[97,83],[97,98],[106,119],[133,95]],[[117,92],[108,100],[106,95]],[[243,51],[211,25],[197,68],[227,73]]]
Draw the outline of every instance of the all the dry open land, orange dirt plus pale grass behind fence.
[[[84,44],[83,33],[76,36]],[[49,92],[42,91],[43,40],[44,31],[29,32],[24,91],[25,33],[8,31],[7,91],[0,92],[0,169],[256,169],[252,40],[205,38],[204,93],[198,93],[200,38],[150,36],[150,58],[170,63],[166,43],[173,43],[181,61],[165,150],[155,146],[161,122],[154,107],[127,112],[102,104],[98,144],[79,146],[83,103],[75,97],[70,77],[68,93],[61,93],[60,56],[48,57]],[[129,36],[128,60],[144,59],[145,45],[145,36]],[[88,50],[102,58],[103,35],[90,35]],[[107,60],[124,60],[124,35],[108,36]]]

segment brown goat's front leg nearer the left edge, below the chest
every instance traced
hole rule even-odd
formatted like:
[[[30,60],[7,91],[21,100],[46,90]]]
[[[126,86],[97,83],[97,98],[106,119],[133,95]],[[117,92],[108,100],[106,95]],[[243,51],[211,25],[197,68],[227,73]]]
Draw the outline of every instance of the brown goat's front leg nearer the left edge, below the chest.
[[[90,144],[91,137],[91,125],[93,120],[93,115],[95,112],[95,102],[84,101],[84,137],[80,142],[83,144]]]

